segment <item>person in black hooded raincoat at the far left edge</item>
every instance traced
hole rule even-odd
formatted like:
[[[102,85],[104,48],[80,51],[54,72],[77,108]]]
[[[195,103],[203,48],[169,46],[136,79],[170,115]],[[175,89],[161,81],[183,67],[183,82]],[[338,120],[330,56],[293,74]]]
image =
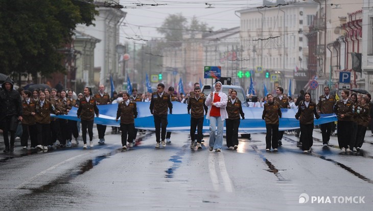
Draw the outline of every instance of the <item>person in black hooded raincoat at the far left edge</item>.
[[[15,130],[18,121],[22,121],[22,101],[19,93],[13,89],[13,82],[8,77],[0,91],[0,127],[3,129],[4,152],[14,152]],[[10,143],[8,133],[10,133]]]

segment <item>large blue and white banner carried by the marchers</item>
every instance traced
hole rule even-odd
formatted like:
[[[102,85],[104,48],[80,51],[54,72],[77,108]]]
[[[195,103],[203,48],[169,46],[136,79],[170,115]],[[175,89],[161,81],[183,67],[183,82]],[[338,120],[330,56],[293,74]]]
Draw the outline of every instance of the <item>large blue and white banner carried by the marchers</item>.
[[[191,115],[188,114],[187,104],[173,101],[172,114],[168,115],[167,131],[180,133],[190,132]],[[138,129],[155,130],[154,118],[149,110],[150,102],[137,102],[138,115],[135,119],[135,127]],[[104,124],[109,126],[119,126],[120,120],[115,121],[116,110],[118,104],[98,105],[100,110],[99,117],[95,117],[96,124]],[[77,118],[77,108],[73,108],[67,115],[57,115],[58,118],[80,121]],[[266,123],[262,120],[263,108],[248,108],[243,107],[245,119],[241,119],[239,133],[254,134],[265,133]],[[289,130],[299,128],[299,121],[295,119],[297,109],[281,109],[282,118],[279,123],[279,130]],[[315,125],[327,122],[337,121],[334,114],[321,114],[321,118],[315,119]],[[203,121],[203,133],[209,132],[209,121]],[[225,127],[224,127],[225,132]]]

